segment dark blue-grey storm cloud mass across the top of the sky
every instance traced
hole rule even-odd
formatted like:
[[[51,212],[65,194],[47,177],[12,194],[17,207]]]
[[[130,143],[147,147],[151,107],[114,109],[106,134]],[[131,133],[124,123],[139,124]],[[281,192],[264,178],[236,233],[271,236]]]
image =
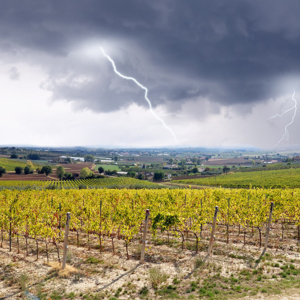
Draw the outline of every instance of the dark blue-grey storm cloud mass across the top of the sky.
[[[146,85],[154,105],[201,97],[251,104],[278,96],[277,77],[299,73],[298,11],[297,0],[2,1],[0,51],[36,59],[53,99],[79,107],[146,105],[109,62],[69,58],[87,40],[114,42],[117,68]]]

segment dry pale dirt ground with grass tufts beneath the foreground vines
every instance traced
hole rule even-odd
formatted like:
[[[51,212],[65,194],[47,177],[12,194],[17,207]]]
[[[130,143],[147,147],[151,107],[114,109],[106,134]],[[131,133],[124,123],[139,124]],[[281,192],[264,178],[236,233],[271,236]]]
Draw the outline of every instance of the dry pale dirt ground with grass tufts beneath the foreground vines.
[[[145,262],[139,263],[140,235],[126,248],[122,239],[102,241],[100,251],[97,235],[70,232],[67,269],[59,270],[56,248],[48,244],[47,263],[45,244],[30,240],[28,256],[23,237],[12,238],[8,250],[7,235],[3,234],[0,248],[0,299],[300,299],[300,244],[296,227],[288,224],[281,236],[281,225],[274,225],[269,247],[259,248],[257,230],[247,229],[245,244],[243,231],[231,228],[229,243],[223,226],[217,226],[212,254],[206,256],[209,226],[205,226],[202,240],[195,251],[192,233],[181,237],[169,232],[158,234],[155,244],[147,235]],[[264,236],[263,236],[264,238]],[[59,244],[62,259],[62,243]]]

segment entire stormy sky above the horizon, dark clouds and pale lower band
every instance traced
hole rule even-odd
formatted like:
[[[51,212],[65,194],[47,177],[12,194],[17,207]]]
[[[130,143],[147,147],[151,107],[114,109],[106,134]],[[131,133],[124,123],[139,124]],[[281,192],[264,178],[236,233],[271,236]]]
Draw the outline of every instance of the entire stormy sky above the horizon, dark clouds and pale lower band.
[[[298,0],[1,1],[0,144],[299,145],[298,11]]]

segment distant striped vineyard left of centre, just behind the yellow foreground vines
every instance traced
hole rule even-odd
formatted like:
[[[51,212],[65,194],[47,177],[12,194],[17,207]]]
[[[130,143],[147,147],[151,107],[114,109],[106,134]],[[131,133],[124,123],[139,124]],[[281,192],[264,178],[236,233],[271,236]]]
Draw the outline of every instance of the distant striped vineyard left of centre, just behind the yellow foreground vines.
[[[0,188],[52,188],[52,189],[67,189],[78,188],[78,186],[86,186],[89,188],[102,186],[122,186],[128,185],[149,186],[152,188],[160,187],[160,185],[150,181],[141,181],[131,177],[105,177],[105,178],[89,178],[89,179],[75,179],[75,180],[2,180],[0,181]]]

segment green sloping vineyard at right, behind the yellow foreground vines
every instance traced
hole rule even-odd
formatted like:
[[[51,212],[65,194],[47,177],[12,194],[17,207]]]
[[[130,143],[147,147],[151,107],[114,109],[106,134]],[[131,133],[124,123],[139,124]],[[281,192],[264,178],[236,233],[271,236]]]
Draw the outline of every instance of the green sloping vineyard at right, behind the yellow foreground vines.
[[[173,180],[173,183],[223,187],[296,188],[300,186],[300,168],[236,172],[206,178]]]

